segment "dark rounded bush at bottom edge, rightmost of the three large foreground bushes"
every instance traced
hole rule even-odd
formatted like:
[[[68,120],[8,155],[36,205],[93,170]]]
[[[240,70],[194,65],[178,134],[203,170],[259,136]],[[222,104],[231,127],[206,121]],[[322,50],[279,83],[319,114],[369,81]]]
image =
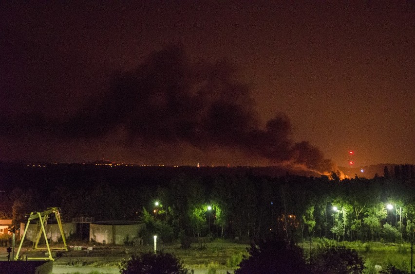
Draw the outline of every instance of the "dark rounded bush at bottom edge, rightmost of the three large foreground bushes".
[[[311,273],[363,273],[364,261],[356,250],[344,246],[321,247],[310,259]]]

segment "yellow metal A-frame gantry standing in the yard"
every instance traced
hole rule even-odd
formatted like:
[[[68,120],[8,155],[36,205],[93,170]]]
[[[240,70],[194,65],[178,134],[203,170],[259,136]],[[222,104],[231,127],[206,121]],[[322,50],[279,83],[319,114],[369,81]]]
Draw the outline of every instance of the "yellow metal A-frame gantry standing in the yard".
[[[60,220],[59,208],[58,207],[48,207],[45,211],[31,212],[30,213],[30,216],[27,220],[26,227],[24,228],[23,236],[20,240],[19,249],[16,253],[16,257],[14,258],[15,260],[19,259],[19,252],[20,252],[20,249],[21,249],[21,245],[23,244],[24,237],[26,236],[26,232],[27,232],[27,229],[29,227],[29,223],[30,223],[30,221],[33,221],[33,220],[38,220],[37,237],[36,237],[36,240],[33,242],[33,249],[40,249],[40,248],[38,248],[38,243],[39,243],[40,237],[43,234],[43,236],[45,237],[46,249],[48,250],[49,257],[36,257],[36,258],[27,258],[27,259],[28,260],[44,259],[44,260],[51,260],[51,261],[54,260],[54,258],[52,257],[51,247],[49,246],[48,238],[46,236],[46,229],[45,229],[46,224],[47,224],[48,219],[49,219],[49,215],[51,215],[51,214],[55,214],[55,217],[56,217],[56,220],[57,220],[57,225],[59,226],[60,235],[61,235],[62,241],[63,241],[63,247],[55,247],[53,249],[68,251],[68,247],[66,245],[65,234],[63,233],[62,222]],[[42,249],[44,249],[44,248],[42,248]]]

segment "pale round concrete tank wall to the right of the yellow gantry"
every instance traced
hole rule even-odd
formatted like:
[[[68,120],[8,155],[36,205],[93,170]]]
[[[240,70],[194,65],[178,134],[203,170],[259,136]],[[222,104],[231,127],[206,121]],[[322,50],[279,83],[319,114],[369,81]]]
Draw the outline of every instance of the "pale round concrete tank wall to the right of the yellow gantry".
[[[138,237],[138,233],[145,227],[144,223],[133,224],[101,224],[91,223],[89,236],[92,240],[100,243],[124,244],[127,238],[132,240]]]

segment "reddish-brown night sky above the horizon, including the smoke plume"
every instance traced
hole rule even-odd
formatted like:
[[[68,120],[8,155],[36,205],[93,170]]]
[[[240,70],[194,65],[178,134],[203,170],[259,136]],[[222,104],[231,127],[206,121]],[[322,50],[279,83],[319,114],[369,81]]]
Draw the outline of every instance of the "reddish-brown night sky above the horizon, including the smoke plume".
[[[414,164],[415,2],[277,2],[3,1],[0,160]]]

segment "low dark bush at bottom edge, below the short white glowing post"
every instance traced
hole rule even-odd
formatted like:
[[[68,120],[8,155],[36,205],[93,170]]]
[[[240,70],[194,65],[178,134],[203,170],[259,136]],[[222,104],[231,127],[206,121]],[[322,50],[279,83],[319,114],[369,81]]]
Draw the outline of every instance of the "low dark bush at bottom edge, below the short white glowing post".
[[[147,252],[132,255],[127,261],[121,263],[121,274],[190,274],[177,257],[170,253]]]

